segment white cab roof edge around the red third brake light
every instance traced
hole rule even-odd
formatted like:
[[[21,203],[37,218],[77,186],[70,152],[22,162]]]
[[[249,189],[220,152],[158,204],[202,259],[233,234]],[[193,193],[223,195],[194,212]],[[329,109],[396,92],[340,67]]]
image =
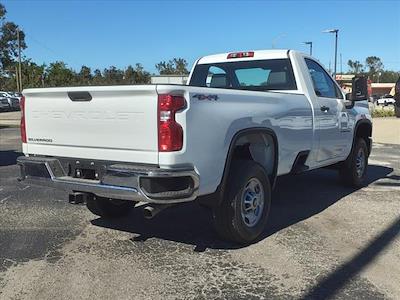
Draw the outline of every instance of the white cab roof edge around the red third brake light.
[[[272,50],[247,50],[247,51],[232,51],[226,53],[219,53],[213,55],[207,55],[198,60],[198,64],[211,64],[217,62],[231,62],[231,61],[245,61],[245,60],[262,60],[262,59],[277,59],[277,58],[288,58],[288,52],[293,51],[290,49],[272,49]],[[239,52],[254,52],[252,57],[241,57],[235,59],[228,59],[230,53]]]

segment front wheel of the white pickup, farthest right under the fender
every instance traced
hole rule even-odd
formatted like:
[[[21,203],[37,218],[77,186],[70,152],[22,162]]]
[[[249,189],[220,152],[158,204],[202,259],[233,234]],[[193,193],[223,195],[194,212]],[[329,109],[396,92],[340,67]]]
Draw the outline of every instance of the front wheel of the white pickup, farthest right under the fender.
[[[364,184],[367,168],[367,143],[363,138],[357,138],[349,157],[339,169],[339,176],[344,185],[359,188]]]

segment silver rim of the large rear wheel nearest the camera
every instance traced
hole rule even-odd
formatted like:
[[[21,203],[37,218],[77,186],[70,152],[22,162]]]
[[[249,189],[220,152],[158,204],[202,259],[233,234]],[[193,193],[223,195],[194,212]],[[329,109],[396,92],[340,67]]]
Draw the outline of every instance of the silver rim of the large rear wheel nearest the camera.
[[[255,226],[264,209],[264,187],[257,178],[251,178],[242,193],[242,220],[248,227]]]

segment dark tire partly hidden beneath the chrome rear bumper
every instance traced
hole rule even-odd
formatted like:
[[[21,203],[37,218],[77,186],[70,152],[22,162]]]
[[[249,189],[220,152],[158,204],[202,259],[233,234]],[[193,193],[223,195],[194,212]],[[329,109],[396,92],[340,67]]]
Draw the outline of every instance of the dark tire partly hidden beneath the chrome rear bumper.
[[[115,200],[103,197],[88,197],[86,199],[86,207],[91,213],[102,218],[117,218],[129,214],[131,208],[135,206],[135,202]]]

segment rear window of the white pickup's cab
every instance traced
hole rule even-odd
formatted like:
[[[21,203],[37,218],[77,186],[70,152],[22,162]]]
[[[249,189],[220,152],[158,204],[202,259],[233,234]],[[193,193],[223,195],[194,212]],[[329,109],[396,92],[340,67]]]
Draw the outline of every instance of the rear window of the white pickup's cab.
[[[296,90],[289,59],[197,65],[189,85],[241,90]]]

